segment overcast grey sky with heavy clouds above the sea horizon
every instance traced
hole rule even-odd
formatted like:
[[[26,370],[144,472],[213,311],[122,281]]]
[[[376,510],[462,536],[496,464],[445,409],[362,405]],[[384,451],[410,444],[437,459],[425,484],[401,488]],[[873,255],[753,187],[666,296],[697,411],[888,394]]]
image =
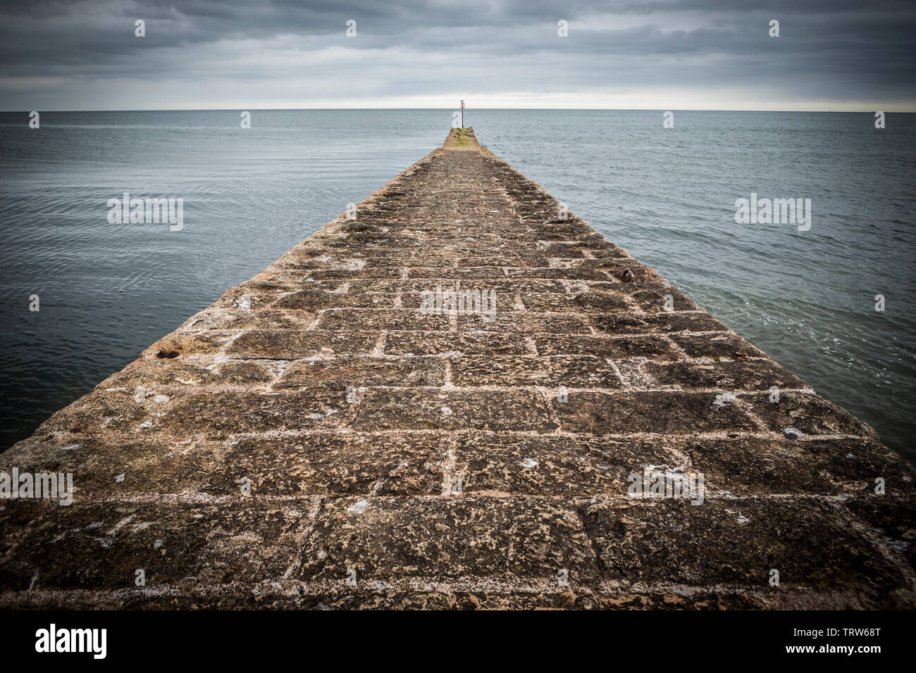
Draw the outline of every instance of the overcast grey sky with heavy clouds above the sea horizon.
[[[916,111],[914,36],[913,0],[21,0],[0,109]]]

